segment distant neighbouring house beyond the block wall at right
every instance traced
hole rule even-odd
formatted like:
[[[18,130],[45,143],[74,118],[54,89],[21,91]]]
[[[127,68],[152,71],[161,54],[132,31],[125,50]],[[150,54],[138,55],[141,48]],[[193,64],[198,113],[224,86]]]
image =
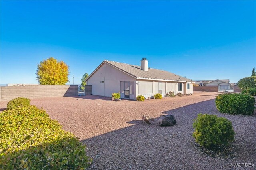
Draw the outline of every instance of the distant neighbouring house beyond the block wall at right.
[[[218,90],[228,90],[230,89],[229,80],[196,80],[196,85],[199,86],[217,86]]]

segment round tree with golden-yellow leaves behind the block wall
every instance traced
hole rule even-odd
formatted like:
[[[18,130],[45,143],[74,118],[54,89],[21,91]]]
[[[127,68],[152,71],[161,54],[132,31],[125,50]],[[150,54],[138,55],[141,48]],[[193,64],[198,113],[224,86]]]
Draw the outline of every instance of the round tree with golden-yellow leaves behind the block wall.
[[[69,68],[63,61],[50,57],[37,65],[36,76],[40,85],[65,85],[69,82]]]

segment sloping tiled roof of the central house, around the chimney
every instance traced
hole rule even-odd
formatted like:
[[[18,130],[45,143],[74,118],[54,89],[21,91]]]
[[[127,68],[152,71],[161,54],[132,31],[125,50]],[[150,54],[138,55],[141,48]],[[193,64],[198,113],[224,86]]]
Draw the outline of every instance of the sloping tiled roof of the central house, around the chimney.
[[[115,61],[104,60],[104,63],[108,63],[117,69],[120,69],[137,79],[159,79],[159,80],[170,80],[170,81],[189,81],[192,80],[187,79],[185,77],[181,77],[174,73],[170,73],[164,70],[158,70],[153,68],[148,68],[148,71],[144,71],[140,69],[138,65],[131,65],[126,63],[118,63]]]

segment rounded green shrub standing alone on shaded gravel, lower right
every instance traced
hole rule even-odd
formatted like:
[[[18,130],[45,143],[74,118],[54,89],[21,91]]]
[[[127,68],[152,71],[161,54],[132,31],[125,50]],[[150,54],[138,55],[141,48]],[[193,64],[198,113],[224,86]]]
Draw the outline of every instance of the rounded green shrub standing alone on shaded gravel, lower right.
[[[194,119],[193,128],[196,142],[206,148],[228,146],[234,140],[232,123],[224,117],[199,114]]]

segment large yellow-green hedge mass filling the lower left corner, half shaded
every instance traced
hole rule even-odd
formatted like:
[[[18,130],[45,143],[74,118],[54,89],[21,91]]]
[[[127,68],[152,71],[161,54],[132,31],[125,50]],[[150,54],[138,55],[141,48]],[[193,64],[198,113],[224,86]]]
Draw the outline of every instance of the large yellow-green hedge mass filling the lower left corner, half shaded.
[[[85,146],[35,106],[0,113],[0,169],[83,169]]]

